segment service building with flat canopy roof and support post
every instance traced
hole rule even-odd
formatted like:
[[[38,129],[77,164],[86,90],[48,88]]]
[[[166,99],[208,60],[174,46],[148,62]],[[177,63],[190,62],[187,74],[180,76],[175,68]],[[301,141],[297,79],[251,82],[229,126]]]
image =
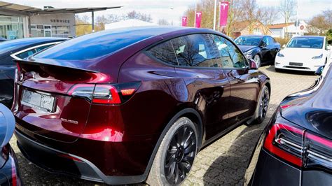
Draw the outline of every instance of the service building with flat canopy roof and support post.
[[[6,39],[27,37],[74,37],[75,14],[91,13],[94,29],[94,12],[113,7],[43,9],[0,1],[0,37]]]

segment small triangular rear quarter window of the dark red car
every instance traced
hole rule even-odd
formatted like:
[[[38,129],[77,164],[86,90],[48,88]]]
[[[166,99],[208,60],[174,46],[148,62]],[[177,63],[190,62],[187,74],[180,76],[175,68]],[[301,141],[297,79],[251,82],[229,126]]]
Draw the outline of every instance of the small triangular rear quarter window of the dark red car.
[[[162,62],[171,65],[178,65],[177,57],[175,56],[174,49],[170,41],[156,45],[148,50],[148,53],[156,57]]]

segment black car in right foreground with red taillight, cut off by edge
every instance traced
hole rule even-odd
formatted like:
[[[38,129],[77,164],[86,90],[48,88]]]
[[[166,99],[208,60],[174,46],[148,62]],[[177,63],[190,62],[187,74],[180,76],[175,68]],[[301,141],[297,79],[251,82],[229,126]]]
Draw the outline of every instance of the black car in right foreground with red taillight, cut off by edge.
[[[331,87],[329,64],[312,87],[280,103],[251,158],[248,185],[331,185]]]

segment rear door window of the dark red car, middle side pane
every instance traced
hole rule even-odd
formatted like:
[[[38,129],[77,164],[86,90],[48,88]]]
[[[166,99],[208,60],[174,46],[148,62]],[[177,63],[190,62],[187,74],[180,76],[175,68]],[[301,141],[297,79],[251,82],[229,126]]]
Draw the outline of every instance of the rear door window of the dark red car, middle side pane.
[[[172,39],[172,45],[179,66],[221,67],[216,60],[218,53],[213,51],[208,34],[192,34]]]

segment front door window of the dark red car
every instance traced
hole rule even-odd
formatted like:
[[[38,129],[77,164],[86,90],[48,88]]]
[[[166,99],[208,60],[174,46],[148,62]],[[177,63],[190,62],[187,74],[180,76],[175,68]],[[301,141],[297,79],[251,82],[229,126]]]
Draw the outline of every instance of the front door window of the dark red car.
[[[224,69],[247,68],[247,60],[233,43],[221,36],[213,35],[213,39],[219,50],[219,61]]]

